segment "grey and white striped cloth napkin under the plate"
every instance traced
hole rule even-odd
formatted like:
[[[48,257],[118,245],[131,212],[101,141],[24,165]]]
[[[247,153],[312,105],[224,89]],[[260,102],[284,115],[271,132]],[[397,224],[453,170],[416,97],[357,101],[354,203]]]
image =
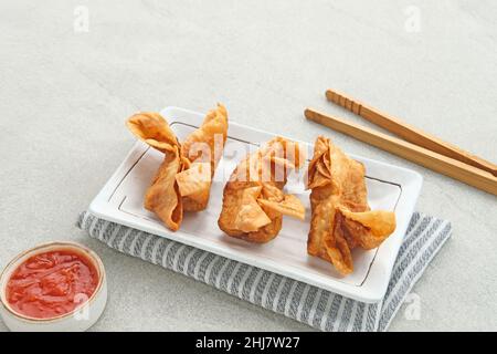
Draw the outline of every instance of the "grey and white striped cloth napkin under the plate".
[[[385,331],[411,288],[450,238],[450,222],[412,216],[387,293],[363,303],[166,238],[81,214],[77,226],[119,252],[192,277],[321,331]]]

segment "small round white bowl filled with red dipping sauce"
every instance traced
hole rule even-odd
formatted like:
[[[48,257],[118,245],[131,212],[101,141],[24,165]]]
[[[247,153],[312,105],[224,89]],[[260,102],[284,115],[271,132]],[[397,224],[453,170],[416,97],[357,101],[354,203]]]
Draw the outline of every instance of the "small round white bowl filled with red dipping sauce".
[[[0,299],[0,315],[11,331],[85,331],[107,302],[104,264],[80,243],[43,243],[6,267]]]

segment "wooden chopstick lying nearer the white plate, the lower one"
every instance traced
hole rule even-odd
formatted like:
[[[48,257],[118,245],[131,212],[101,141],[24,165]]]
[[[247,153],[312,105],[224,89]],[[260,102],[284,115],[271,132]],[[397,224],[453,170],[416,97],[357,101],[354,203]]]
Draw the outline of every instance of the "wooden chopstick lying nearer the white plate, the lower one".
[[[313,108],[307,108],[305,116],[307,119],[497,196],[497,178],[477,167]]]

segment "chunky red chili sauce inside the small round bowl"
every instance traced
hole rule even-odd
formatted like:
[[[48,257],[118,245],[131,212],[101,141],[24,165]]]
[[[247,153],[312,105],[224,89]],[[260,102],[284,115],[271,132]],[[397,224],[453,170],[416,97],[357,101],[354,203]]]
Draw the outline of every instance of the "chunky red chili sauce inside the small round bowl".
[[[21,263],[7,284],[7,301],[21,314],[51,319],[89,299],[98,273],[83,254],[61,250],[40,253]]]

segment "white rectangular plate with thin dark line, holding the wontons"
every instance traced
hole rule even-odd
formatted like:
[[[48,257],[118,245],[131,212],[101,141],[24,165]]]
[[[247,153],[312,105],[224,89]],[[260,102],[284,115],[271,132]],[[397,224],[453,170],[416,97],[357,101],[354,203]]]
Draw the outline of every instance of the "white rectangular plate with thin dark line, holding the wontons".
[[[182,140],[200,126],[203,114],[168,107],[161,112]],[[411,219],[422,177],[412,170],[349,154],[366,166],[368,201],[372,209],[393,210],[396,230],[378,249],[352,251],[355,271],[341,277],[334,267],[307,254],[307,232],[310,208],[309,192],[304,189],[302,175],[293,174],[286,189],[297,195],[306,207],[306,220],[285,217],[283,228],[273,241],[265,244],[248,243],[228,237],[218,227],[222,194],[226,178],[237,163],[258,144],[274,134],[233,123],[211,189],[209,207],[201,212],[187,212],[177,232],[168,230],[150,211],[144,208],[146,189],[156,174],[163,155],[138,142],[116,173],[92,201],[89,210],[106,220],[155,233],[193,246],[236,261],[316,285],[318,288],[363,301],[380,301],[387,291],[393,263]],[[311,153],[311,146],[303,143]],[[309,155],[310,156],[310,155]],[[304,166],[306,169],[307,166]]]

